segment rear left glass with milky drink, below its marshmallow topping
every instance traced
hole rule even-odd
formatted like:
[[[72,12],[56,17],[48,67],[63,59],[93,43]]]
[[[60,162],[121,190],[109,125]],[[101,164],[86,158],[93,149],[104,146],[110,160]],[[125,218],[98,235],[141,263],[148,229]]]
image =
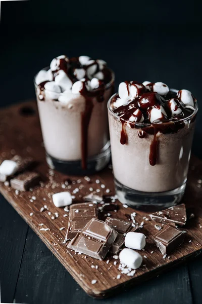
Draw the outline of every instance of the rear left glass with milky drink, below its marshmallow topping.
[[[79,94],[70,94],[67,104],[48,98],[45,90],[41,91],[36,85],[35,78],[49,167],[71,175],[87,175],[102,170],[111,157],[107,102],[114,93],[114,73],[112,81],[100,91],[101,95],[100,89],[94,90],[95,97],[87,99]]]

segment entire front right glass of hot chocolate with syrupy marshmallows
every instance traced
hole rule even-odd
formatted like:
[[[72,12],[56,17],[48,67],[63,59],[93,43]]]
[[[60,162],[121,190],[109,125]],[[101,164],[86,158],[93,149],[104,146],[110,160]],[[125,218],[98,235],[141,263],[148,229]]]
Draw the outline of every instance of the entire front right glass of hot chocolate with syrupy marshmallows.
[[[123,82],[108,102],[115,187],[133,207],[164,208],[183,197],[196,99],[164,83]]]

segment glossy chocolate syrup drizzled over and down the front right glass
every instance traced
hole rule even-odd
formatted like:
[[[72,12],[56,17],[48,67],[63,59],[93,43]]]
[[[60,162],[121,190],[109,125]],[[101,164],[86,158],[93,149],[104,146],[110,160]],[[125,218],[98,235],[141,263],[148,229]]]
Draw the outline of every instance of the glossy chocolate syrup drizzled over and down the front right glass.
[[[185,108],[184,104],[180,100],[180,93],[174,93],[169,91],[169,93],[165,97],[162,97],[156,92],[149,91],[142,84],[136,82],[128,82],[128,81],[126,81],[125,83],[127,85],[128,96],[130,95],[129,87],[135,86],[136,84],[138,86],[137,86],[136,98],[134,98],[126,105],[122,105],[116,109],[113,109],[113,112],[120,117],[120,122],[122,124],[120,143],[127,144],[128,141],[125,124],[129,124],[131,128],[135,128],[136,127],[135,124],[139,123],[143,116],[144,121],[142,123],[142,127],[140,125],[141,130],[138,130],[138,137],[144,138],[146,134],[154,135],[153,140],[151,141],[150,144],[149,164],[151,166],[155,166],[158,160],[158,146],[159,146],[157,133],[158,132],[161,132],[163,134],[177,133],[179,129],[182,129],[185,126],[185,123],[180,120],[189,117],[192,114],[193,110],[190,108]],[[146,86],[149,87],[150,90],[153,90],[154,84],[150,83]],[[118,98],[119,95],[116,94],[112,98],[111,104],[116,102]],[[172,98],[174,98],[175,102],[177,103],[174,110],[177,110],[178,107],[182,109],[182,112],[174,117],[172,116],[172,111],[169,106],[169,101]],[[193,100],[196,101],[194,97]],[[151,109],[153,109],[154,107],[160,109],[161,106],[164,108],[166,112],[166,116],[162,115],[161,119],[156,120],[154,123],[150,123]],[[134,115],[134,111],[137,109],[139,109],[139,111],[136,111],[136,115]],[[135,116],[135,122],[129,121],[129,118],[131,116]],[[196,116],[192,118],[191,122],[195,120],[195,117]],[[144,127],[145,124],[149,124],[149,125]]]

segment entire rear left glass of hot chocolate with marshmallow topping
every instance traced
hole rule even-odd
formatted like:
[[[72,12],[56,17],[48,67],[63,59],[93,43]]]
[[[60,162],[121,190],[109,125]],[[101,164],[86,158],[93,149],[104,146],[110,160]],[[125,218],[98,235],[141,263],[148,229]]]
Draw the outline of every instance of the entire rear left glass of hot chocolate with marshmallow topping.
[[[72,175],[102,170],[111,157],[107,102],[114,93],[107,63],[62,55],[34,85],[49,167]]]

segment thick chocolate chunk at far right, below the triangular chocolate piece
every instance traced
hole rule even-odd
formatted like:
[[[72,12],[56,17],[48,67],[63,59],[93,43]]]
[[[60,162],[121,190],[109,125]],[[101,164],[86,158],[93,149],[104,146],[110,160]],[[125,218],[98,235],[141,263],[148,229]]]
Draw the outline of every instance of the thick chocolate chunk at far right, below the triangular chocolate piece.
[[[184,233],[175,225],[168,224],[153,239],[162,254],[169,254],[184,241]]]

